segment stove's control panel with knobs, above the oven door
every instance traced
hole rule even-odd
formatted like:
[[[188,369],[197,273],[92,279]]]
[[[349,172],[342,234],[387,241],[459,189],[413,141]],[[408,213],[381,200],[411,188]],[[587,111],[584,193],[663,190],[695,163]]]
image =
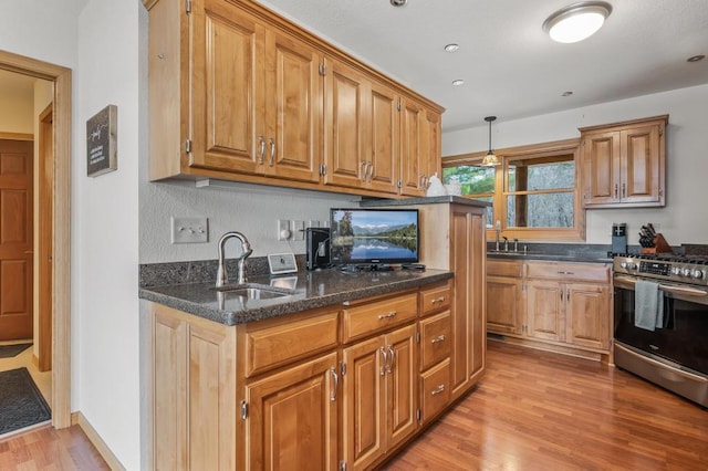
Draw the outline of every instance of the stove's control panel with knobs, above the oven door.
[[[633,276],[645,276],[708,286],[708,257],[673,253],[615,254],[613,270]]]

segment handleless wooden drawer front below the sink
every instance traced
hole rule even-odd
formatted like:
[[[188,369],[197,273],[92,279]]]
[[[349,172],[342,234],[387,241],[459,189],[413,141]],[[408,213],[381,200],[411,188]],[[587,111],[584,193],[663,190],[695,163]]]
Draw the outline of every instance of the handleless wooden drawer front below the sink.
[[[246,377],[337,346],[337,313],[247,332]]]

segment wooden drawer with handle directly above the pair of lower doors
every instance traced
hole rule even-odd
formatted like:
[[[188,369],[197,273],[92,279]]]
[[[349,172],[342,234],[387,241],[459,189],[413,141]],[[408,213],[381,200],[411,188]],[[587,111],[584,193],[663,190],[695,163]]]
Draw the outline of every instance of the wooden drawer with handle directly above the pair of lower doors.
[[[418,315],[418,293],[375,301],[342,311],[344,342],[414,320]]]

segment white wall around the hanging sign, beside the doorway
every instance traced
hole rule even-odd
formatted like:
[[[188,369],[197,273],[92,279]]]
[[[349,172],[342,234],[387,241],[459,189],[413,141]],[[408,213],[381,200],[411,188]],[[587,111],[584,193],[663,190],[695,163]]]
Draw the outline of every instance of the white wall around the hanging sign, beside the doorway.
[[[137,302],[139,0],[8,1],[0,44],[72,70],[72,411],[140,468]],[[84,8],[85,7],[85,8]],[[118,170],[86,177],[85,123],[118,107]]]

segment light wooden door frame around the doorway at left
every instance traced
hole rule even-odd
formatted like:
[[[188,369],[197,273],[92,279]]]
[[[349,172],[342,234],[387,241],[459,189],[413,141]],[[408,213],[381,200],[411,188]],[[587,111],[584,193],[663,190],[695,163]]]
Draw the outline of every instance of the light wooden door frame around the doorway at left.
[[[54,85],[52,425],[61,429],[71,426],[71,70],[2,50],[0,69]]]

